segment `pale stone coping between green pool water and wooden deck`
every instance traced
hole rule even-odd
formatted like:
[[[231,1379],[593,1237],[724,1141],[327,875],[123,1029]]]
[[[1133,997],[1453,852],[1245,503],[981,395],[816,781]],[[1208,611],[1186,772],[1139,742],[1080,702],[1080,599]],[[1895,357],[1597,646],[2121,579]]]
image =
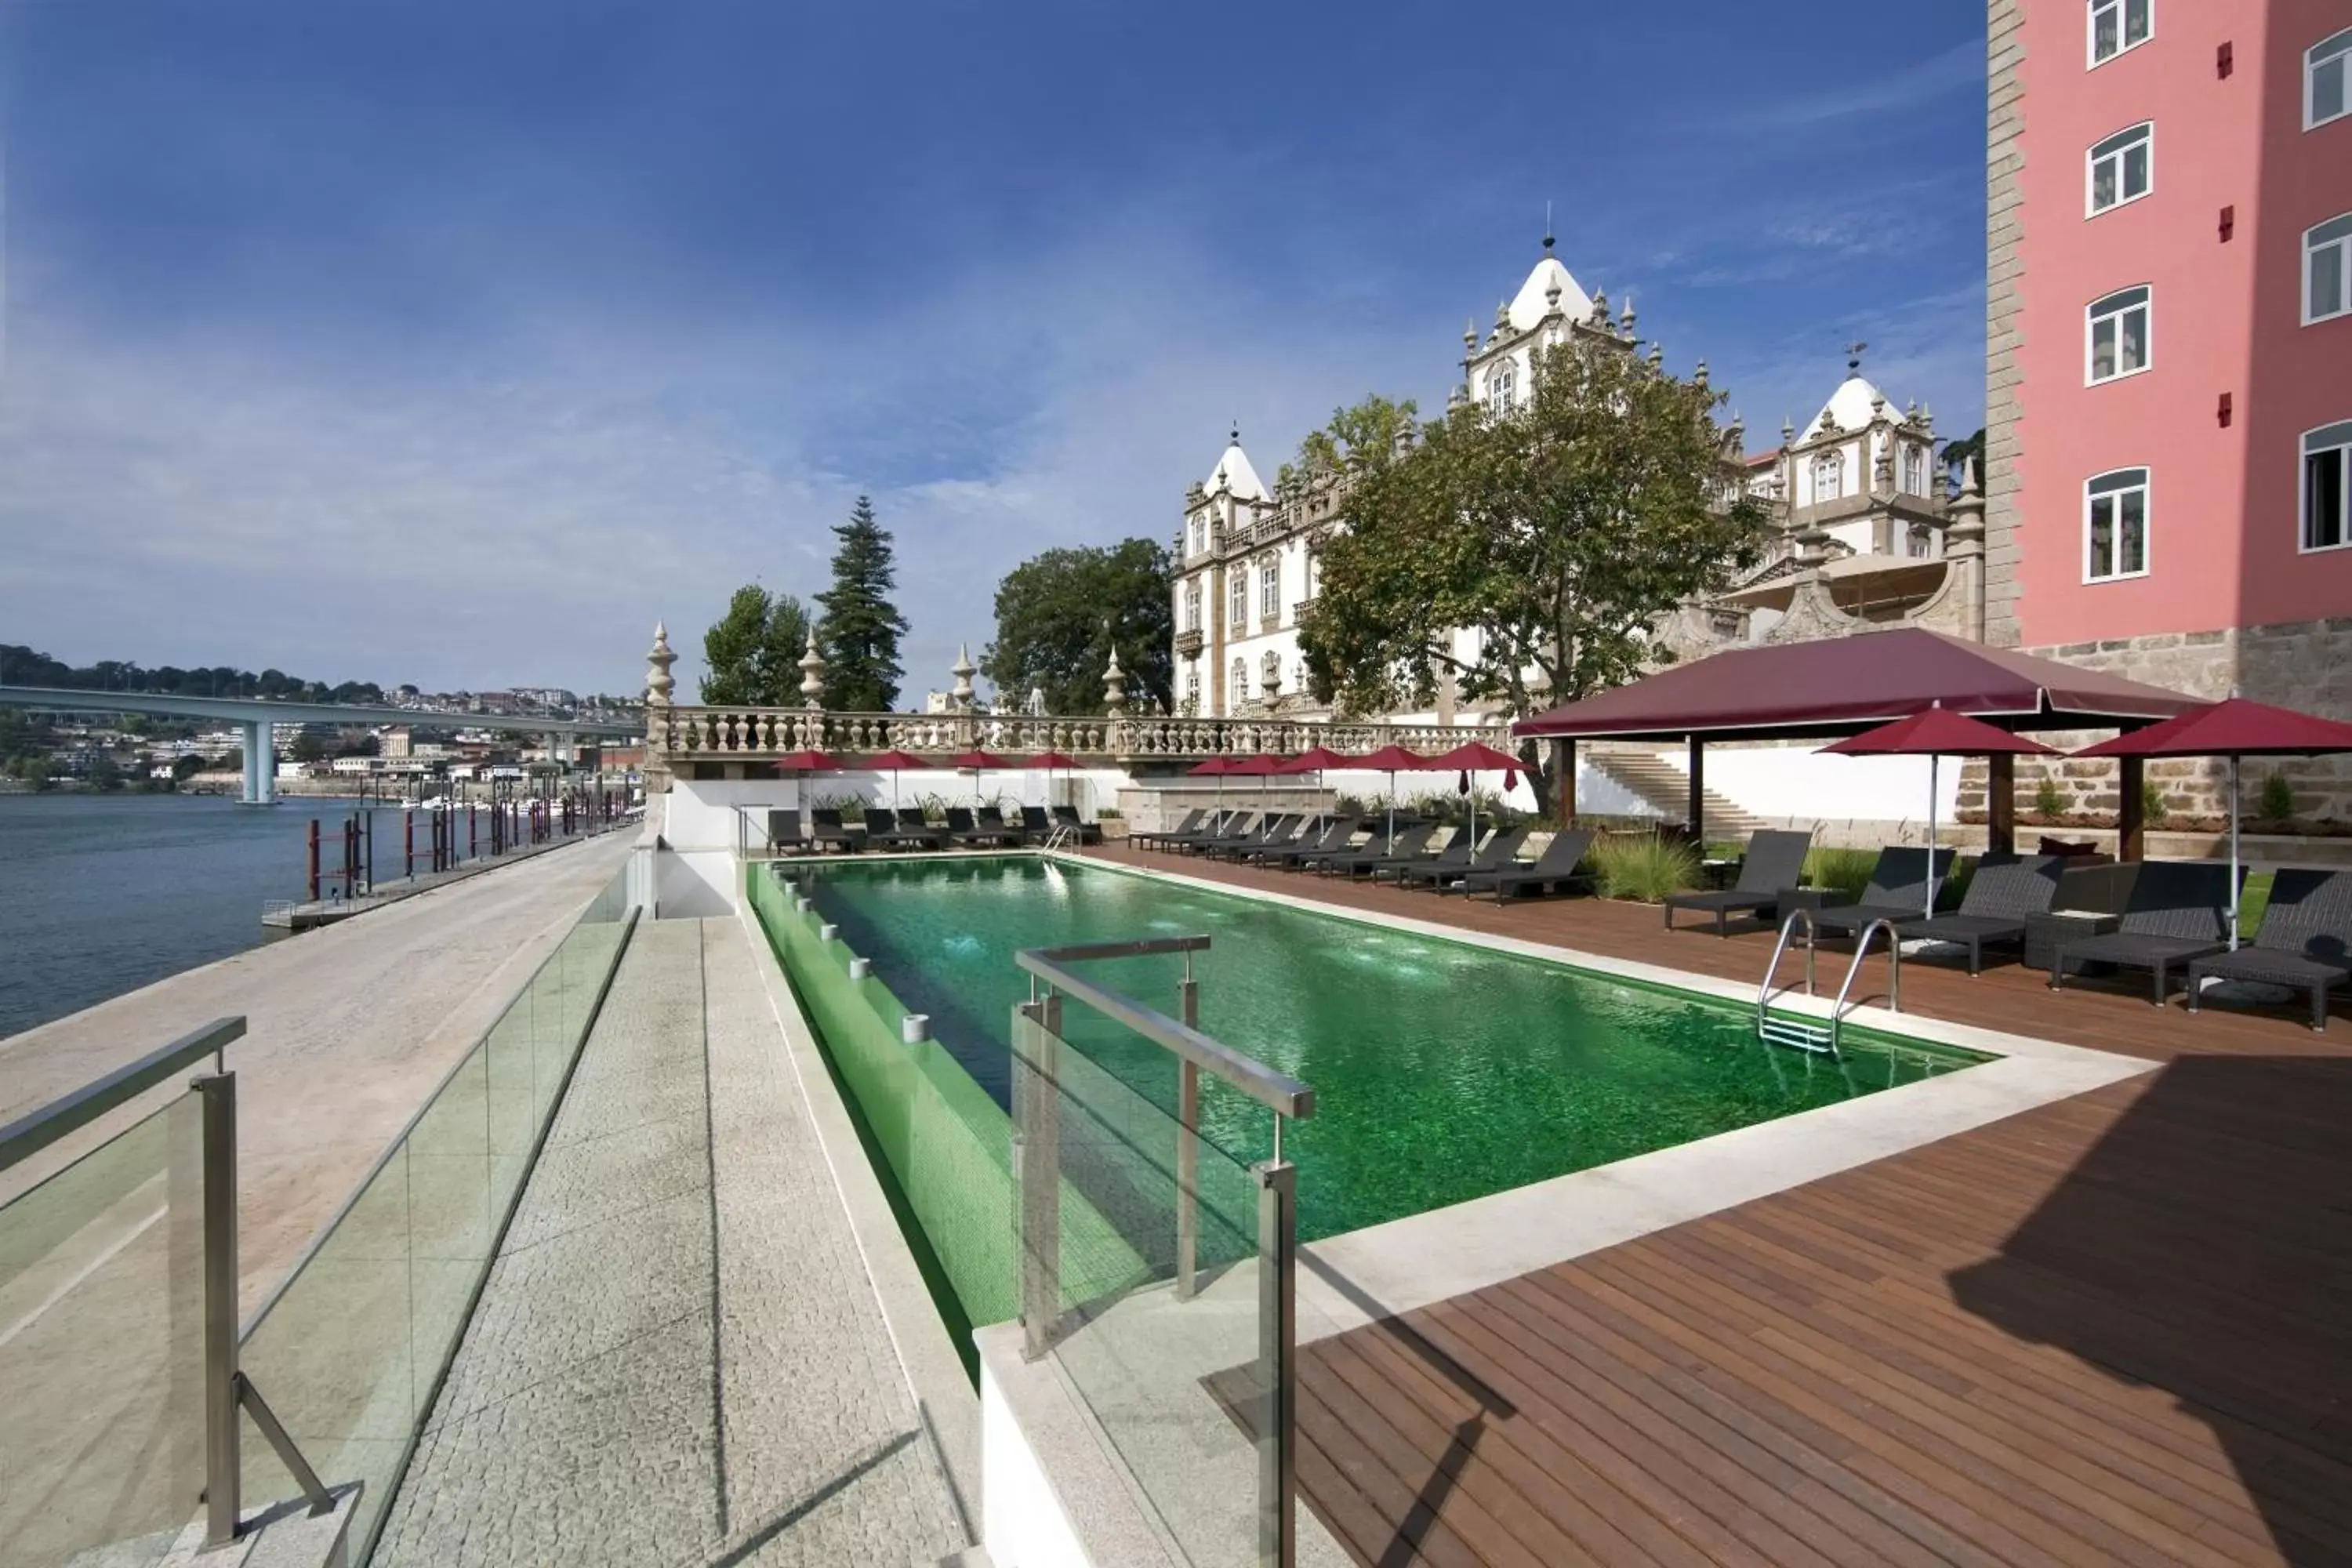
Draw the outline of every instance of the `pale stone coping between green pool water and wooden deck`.
[[[1174,870],[1065,853],[1042,858],[1755,1006],[1752,987],[1663,964],[1494,936],[1409,914],[1357,910]],[[1785,994],[1773,999],[1776,1011],[1813,1018],[1828,1018],[1832,1006],[1825,997]],[[1860,1100],[1820,1105],[1310,1241],[1298,1248],[1303,1265],[1298,1342],[1348,1333],[1383,1316],[1482,1291],[2159,1067],[2159,1063],[2112,1051],[2091,1051],[1919,1013],[1896,1013],[1882,1006],[1858,1006],[1846,1016],[1872,1032],[1959,1046],[1992,1060],[1964,1072],[1882,1088]]]

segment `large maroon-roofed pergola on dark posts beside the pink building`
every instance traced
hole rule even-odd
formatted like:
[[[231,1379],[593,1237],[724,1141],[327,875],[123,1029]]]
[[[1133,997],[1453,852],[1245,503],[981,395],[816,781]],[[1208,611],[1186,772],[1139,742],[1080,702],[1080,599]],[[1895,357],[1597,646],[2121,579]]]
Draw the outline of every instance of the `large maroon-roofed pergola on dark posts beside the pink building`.
[[[1922,628],[1828,642],[1733,649],[1552,708],[1512,726],[1562,743],[1562,816],[1576,811],[1576,741],[1684,741],[1691,748],[1691,825],[1703,820],[1708,741],[1837,741],[1947,708],[2006,731],[2138,729],[2204,708],[2199,698],[2119,675],[1992,649]],[[2122,757],[2119,858],[2145,849],[2143,766]],[[1985,832],[2016,846],[2016,764],[1990,759]]]

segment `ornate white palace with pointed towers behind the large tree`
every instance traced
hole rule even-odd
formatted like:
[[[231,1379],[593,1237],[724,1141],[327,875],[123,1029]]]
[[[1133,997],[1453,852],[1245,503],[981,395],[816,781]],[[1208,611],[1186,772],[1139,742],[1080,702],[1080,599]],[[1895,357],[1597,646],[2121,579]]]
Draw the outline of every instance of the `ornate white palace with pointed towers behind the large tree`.
[[[1529,395],[1536,355],[1571,334],[1642,350],[1632,301],[1611,317],[1606,292],[1585,294],[1545,237],[1543,256],[1494,324],[1479,334],[1472,322],[1463,334],[1461,381],[1449,404],[1517,407]],[[1649,360],[1661,362],[1656,346]],[[1708,376],[1703,360],[1696,376]],[[1733,418],[1724,458],[1726,487],[1745,487],[1771,505],[1773,538],[1745,578],[1661,623],[1658,637],[1677,656],[1903,621],[1973,635],[1959,604],[1969,595],[1947,574],[1950,515],[1931,416],[1896,409],[1863,378],[1858,357],[1804,433],[1783,423],[1778,447],[1748,454]],[[1240,430],[1232,433],[1183,503],[1174,581],[1178,712],[1329,715],[1308,691],[1298,618],[1319,588],[1319,543],[1345,527],[1343,512],[1343,489],[1334,484],[1270,491],[1242,451]],[[1475,632],[1456,637],[1468,644]],[[1482,712],[1456,703],[1442,682],[1435,710],[1381,717],[1449,724],[1477,722]]]

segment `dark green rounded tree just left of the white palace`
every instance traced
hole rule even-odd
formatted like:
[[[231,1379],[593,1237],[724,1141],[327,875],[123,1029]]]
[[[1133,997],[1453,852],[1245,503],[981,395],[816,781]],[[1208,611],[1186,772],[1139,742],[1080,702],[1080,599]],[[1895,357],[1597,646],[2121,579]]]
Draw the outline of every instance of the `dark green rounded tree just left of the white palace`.
[[[981,670],[1016,705],[1037,689],[1047,712],[1101,712],[1117,646],[1129,701],[1171,703],[1169,583],[1169,552],[1150,538],[1035,555],[997,583],[997,637]]]

